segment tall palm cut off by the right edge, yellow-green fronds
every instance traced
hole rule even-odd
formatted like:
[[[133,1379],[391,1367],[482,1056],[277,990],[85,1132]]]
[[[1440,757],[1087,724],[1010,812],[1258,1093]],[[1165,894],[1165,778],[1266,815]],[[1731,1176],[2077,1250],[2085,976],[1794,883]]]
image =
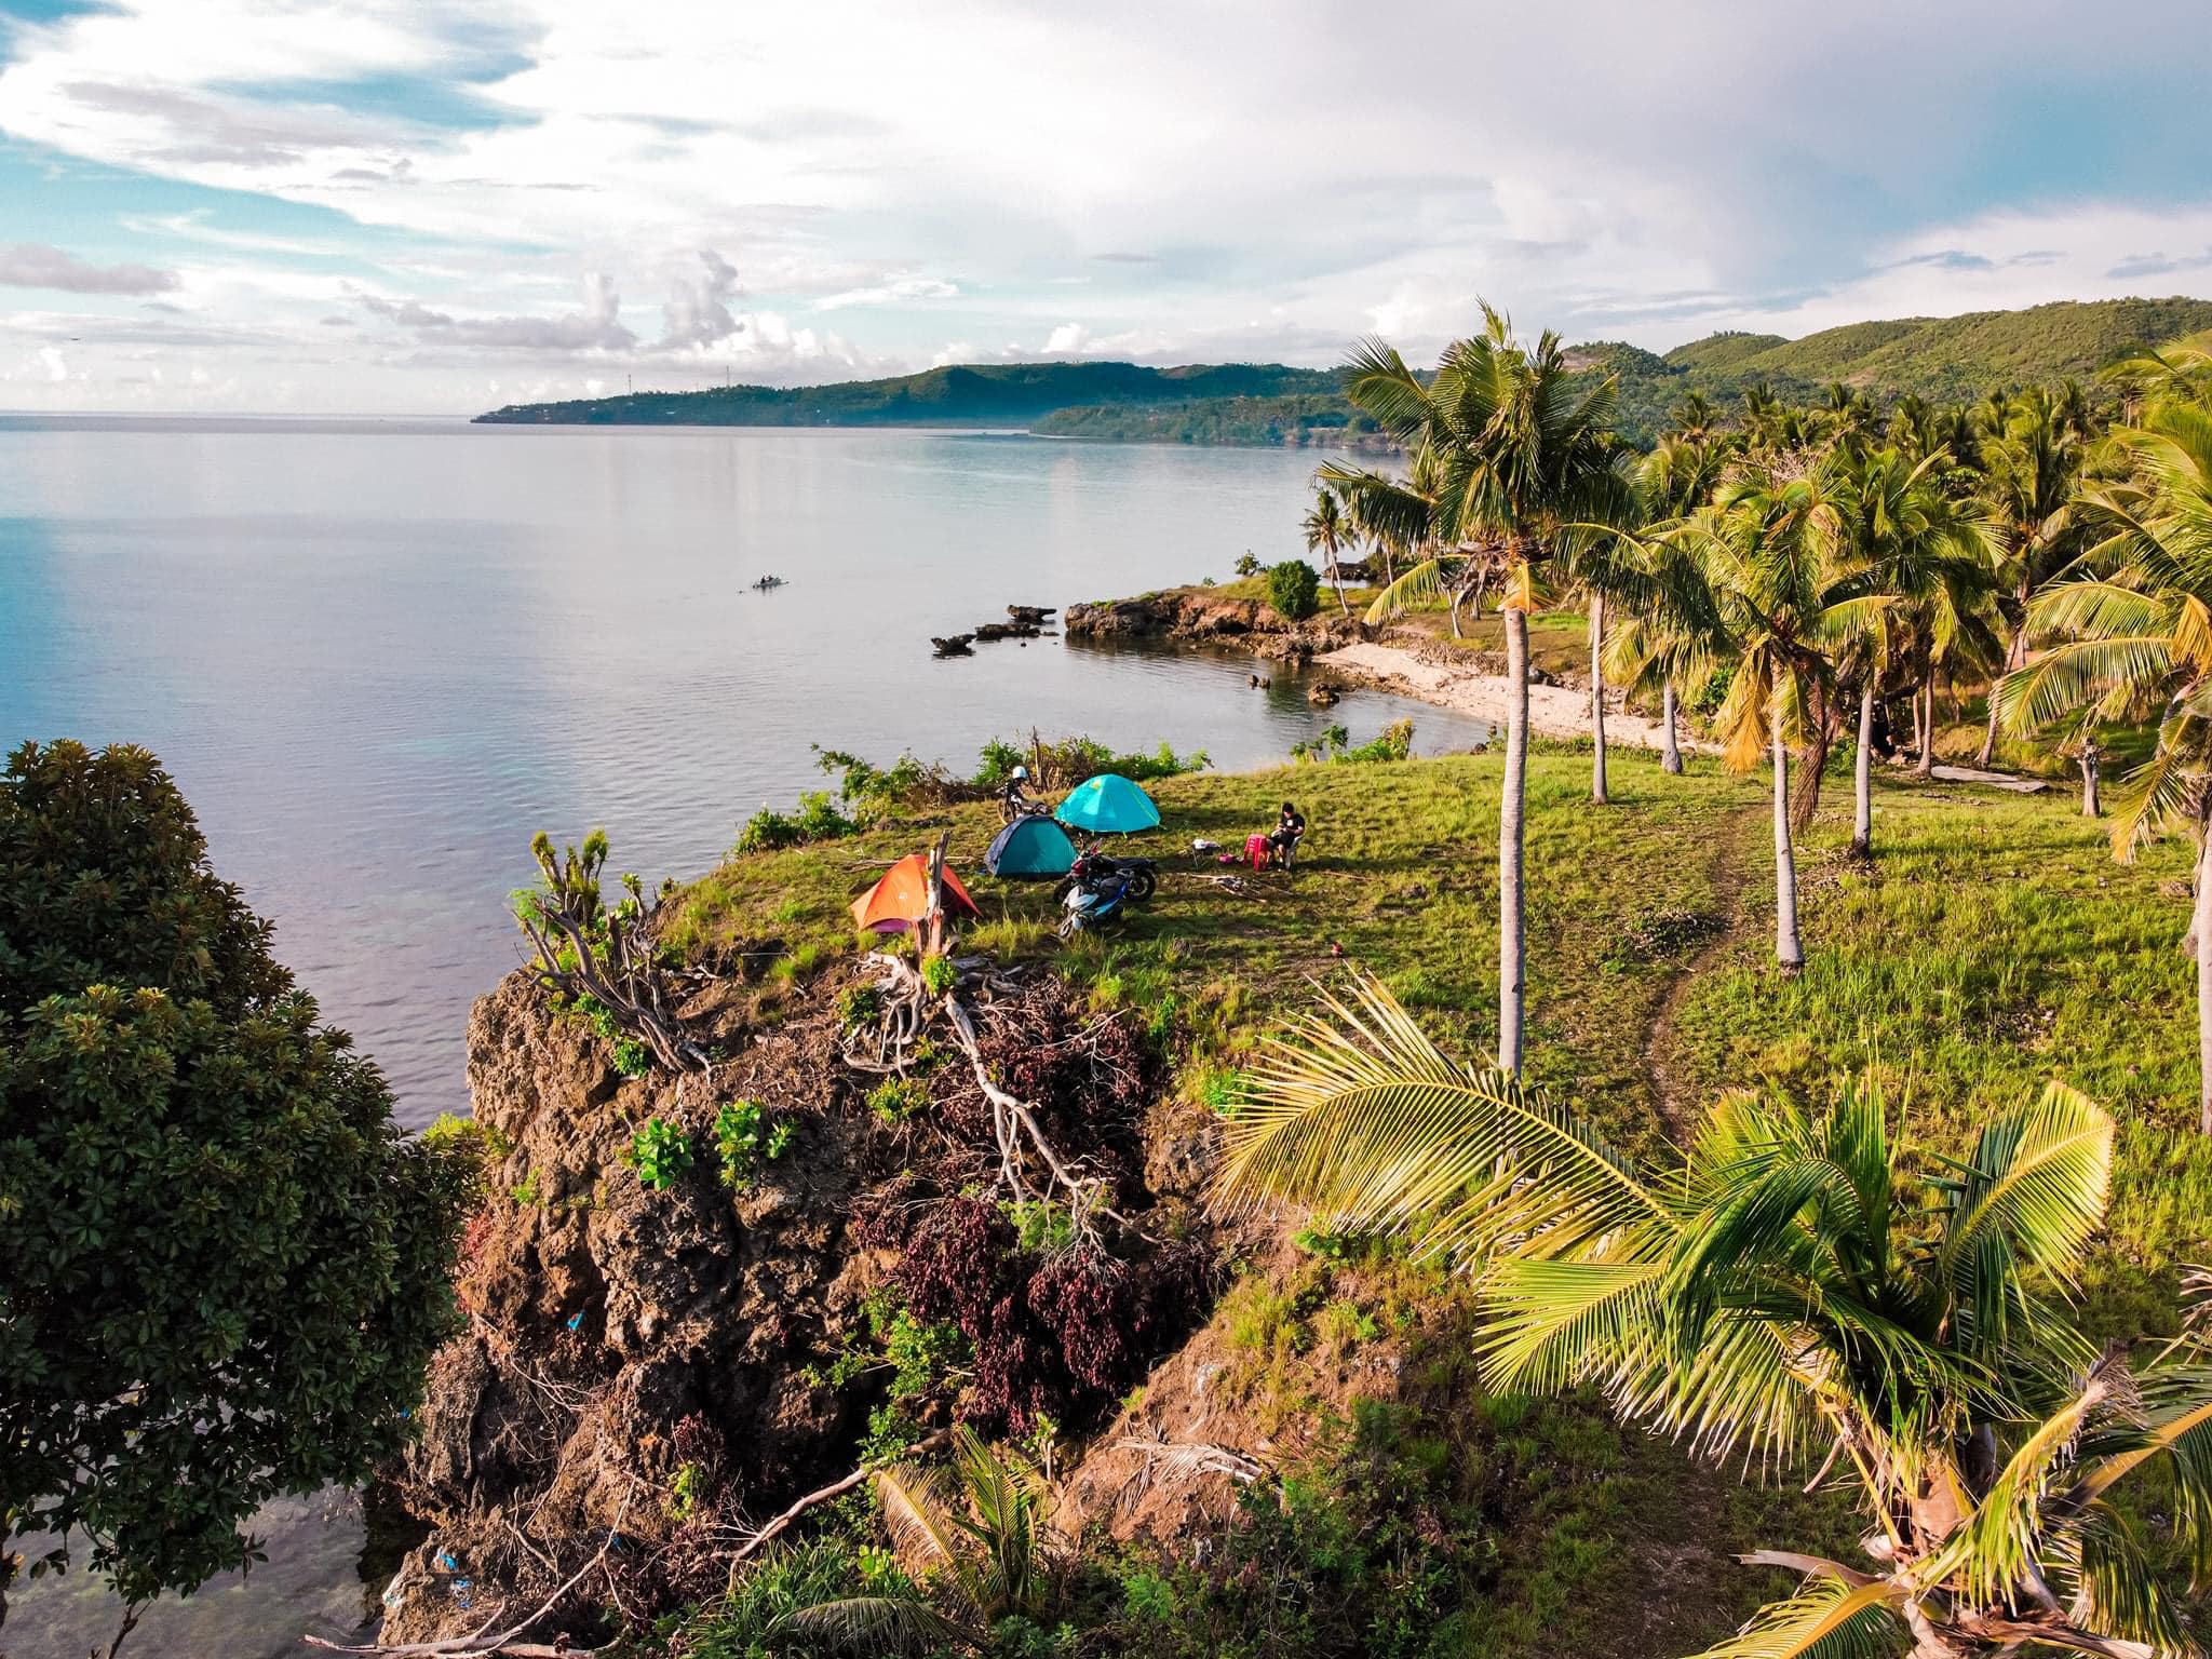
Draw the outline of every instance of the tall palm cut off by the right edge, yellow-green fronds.
[[[2077,509],[2097,542],[2079,575],[2028,602],[2028,626],[2057,644],[2006,675],[1997,703],[2024,734],[2157,717],[2157,748],[2112,801],[2112,852],[2174,830],[2197,841],[2199,1124],[2212,1135],[2212,400],[2166,398],[2110,445],[2128,476]]]

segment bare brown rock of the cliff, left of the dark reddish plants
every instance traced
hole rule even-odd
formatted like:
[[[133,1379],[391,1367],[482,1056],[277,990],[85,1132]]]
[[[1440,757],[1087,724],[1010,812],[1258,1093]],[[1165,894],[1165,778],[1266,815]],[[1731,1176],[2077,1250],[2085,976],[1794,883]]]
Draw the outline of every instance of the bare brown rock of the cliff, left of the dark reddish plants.
[[[666,1537],[686,1462],[752,1509],[847,1453],[863,1402],[801,1378],[880,1274],[852,1237],[872,1159],[865,1119],[825,1088],[834,1035],[818,1015],[726,1031],[743,1051],[714,1093],[757,1099],[792,1146],[750,1190],[695,1168],[653,1192],[624,1164],[630,1137],[659,1115],[703,1144],[703,1091],[619,1077],[524,973],[476,1004],[476,1117],[511,1150],[462,1243],[469,1329],[431,1367],[398,1480],[436,1531],[385,1593],[387,1641],[473,1628],[491,1586],[535,1577],[533,1546],[560,1557],[617,1524]]]

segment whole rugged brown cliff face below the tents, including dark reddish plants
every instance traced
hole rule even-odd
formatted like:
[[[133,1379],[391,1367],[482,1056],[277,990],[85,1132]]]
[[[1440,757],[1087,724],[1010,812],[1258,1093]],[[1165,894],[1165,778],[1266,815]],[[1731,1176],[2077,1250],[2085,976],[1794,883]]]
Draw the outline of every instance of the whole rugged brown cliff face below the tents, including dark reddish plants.
[[[1046,1409],[1104,1420],[1203,1316],[1212,1256],[1186,1194],[1210,1119],[1157,1099],[1124,1022],[1042,975],[978,1011],[991,1071],[1035,1102],[1062,1155],[1113,1179],[1141,1232],[1117,1245],[1128,1261],[1093,1263],[1040,1250],[991,1199],[1000,1155],[964,1064],[916,1075],[902,1113],[869,1106],[878,1079],[841,1055],[849,978],[827,975],[765,1031],[734,993],[706,991],[686,1020],[730,1057],[681,1086],[619,1077],[526,973],[478,1002],[469,1084],[502,1157],[462,1245],[467,1332],[431,1367],[396,1475],[434,1531],[385,1590],[385,1641],[476,1630],[493,1604],[520,1617],[611,1533],[613,1588],[564,1608],[577,1632],[608,1593],[637,1617],[701,1575],[719,1584],[734,1537],[858,1462],[887,1367],[832,1378],[838,1356],[876,1358],[872,1292],[971,1345],[973,1380],[911,1402],[916,1429],[964,1416],[1020,1431]],[[734,1188],[710,1130],[730,1102],[785,1137]],[[666,1190],[626,1161],[650,1117],[695,1148]]]

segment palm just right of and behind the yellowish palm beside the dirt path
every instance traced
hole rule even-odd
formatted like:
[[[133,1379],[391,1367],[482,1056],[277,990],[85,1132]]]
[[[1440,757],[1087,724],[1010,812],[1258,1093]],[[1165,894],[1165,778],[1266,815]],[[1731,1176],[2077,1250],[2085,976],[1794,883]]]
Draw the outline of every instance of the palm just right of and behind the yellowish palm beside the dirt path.
[[[1858,670],[1851,847],[1860,854],[1874,847],[1874,701],[1882,670],[1900,655],[1900,635],[1927,635],[1936,657],[1960,639],[1986,637],[1980,604],[1993,580],[1993,531],[1973,504],[1942,489],[1940,458],[1843,449],[1823,469],[1823,531],[1845,575],[1829,622]]]

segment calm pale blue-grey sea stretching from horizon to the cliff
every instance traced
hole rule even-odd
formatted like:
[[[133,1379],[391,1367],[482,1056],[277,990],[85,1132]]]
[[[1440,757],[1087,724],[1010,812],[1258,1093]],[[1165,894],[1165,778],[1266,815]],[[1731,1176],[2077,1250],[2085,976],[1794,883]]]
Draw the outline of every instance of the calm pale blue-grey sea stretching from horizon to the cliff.
[[[710,867],[812,745],[973,763],[993,734],[1283,759],[1239,657],[978,646],[1004,606],[1301,553],[1298,451],[953,431],[0,418],[0,741],[150,745],[279,956],[392,1077],[462,1110],[469,1002],[520,960],[538,830],[648,883]],[[759,575],[787,586],[757,593]]]

